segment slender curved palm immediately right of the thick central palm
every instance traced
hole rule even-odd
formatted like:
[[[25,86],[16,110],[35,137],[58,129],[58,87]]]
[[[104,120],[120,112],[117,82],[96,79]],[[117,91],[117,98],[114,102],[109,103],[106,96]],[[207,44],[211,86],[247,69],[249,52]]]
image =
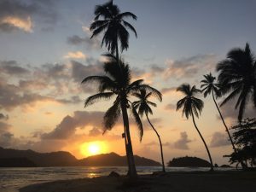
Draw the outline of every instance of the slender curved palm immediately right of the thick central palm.
[[[159,139],[163,172],[166,172],[165,162],[164,162],[164,155],[163,155],[163,148],[162,148],[162,143],[161,143],[161,140],[160,140],[160,135],[155,130],[154,126],[152,125],[151,121],[148,118],[148,113],[153,114],[153,111],[150,108],[150,106],[156,107],[156,104],[154,102],[149,102],[148,98],[150,96],[156,96],[159,99],[159,101],[161,102],[162,101],[162,95],[160,94],[160,92],[148,92],[147,93],[146,90],[140,90],[140,93],[134,93],[133,96],[136,96],[139,100],[136,101],[136,102],[133,102],[132,105],[134,106],[134,108],[138,109],[138,113],[141,117],[143,117],[143,114],[146,115],[149,125],[151,125],[152,129],[154,130],[155,134],[157,135],[157,137]]]

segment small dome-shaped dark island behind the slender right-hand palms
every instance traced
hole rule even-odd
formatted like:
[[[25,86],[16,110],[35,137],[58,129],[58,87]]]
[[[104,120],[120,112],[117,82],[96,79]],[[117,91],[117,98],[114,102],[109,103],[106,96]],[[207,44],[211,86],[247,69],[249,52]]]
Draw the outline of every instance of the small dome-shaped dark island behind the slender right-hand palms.
[[[210,167],[211,164],[207,160],[202,160],[198,157],[177,157],[173,158],[168,162],[168,166],[179,166],[179,167]]]

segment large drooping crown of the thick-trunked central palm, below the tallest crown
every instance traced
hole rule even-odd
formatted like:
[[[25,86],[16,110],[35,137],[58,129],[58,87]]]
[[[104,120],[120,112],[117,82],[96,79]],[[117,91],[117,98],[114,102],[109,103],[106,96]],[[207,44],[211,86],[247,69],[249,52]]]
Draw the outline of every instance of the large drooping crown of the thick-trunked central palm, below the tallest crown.
[[[109,100],[116,96],[113,106],[108,108],[108,111],[104,115],[103,119],[103,131],[108,131],[113,128],[116,121],[119,118],[121,112],[121,105],[125,104],[126,108],[131,108],[131,113],[136,119],[139,131],[140,139],[143,137],[143,125],[141,120],[132,105],[129,105],[128,96],[139,92],[141,89],[157,92],[153,87],[148,84],[143,84],[143,79],[139,79],[131,83],[131,71],[129,65],[123,61],[117,61],[113,55],[108,56],[108,61],[104,63],[104,76],[89,76],[85,78],[82,83],[89,83],[90,81],[96,81],[99,83],[99,93],[93,96],[89,96],[85,102],[84,107],[87,107],[99,100]],[[122,73],[119,73],[119,72]],[[121,75],[122,74],[122,75]]]

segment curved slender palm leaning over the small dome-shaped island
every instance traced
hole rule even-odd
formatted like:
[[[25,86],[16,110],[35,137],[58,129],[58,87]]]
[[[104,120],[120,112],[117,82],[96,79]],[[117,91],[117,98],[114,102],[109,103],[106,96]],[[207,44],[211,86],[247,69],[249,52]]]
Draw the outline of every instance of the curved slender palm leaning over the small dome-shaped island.
[[[201,132],[199,131],[197,125],[195,124],[194,113],[195,116],[198,118],[199,114],[201,114],[202,108],[204,107],[204,102],[202,102],[201,99],[195,97],[195,94],[200,93],[201,90],[196,89],[195,85],[193,87],[190,87],[190,84],[182,84],[177,88],[177,91],[183,92],[185,97],[183,97],[183,99],[177,102],[176,110],[183,108],[183,114],[185,114],[187,119],[189,119],[189,115],[192,116],[195,129],[198,132],[199,136],[201,137],[201,140],[204,143],[205,147],[207,148],[207,154],[211,162],[211,171],[213,171],[212,156],[207,147],[207,143],[205,142],[204,138],[201,135]]]

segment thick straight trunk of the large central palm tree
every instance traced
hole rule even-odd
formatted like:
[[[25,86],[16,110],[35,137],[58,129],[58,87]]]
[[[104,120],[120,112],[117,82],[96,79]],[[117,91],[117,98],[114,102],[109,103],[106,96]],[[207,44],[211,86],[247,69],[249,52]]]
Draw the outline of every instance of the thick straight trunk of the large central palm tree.
[[[121,109],[123,114],[124,128],[125,128],[125,150],[128,163],[128,175],[131,179],[137,178],[137,171],[133,157],[132,145],[131,145],[131,136],[129,128],[129,119],[126,109],[126,103],[121,103]]]

